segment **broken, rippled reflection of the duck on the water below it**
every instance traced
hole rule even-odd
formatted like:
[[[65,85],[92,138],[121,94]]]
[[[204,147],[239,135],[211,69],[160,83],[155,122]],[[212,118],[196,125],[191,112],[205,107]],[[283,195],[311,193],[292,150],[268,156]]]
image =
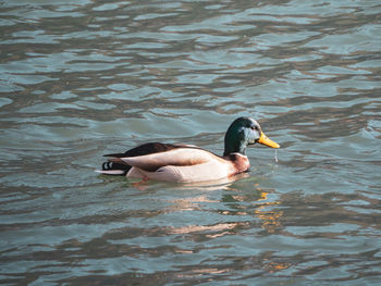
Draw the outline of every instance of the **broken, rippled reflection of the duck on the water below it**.
[[[246,176],[247,178],[247,176]],[[268,234],[274,234],[282,227],[283,211],[276,206],[280,201],[274,200],[275,196],[271,196],[273,190],[263,190],[245,177],[242,181],[219,182],[213,185],[205,185],[201,188],[198,185],[195,190],[195,185],[184,185],[182,190],[190,196],[180,197],[175,196],[165,208],[165,213],[181,213],[199,211],[205,215],[216,215],[216,221],[204,220],[207,216],[197,216],[194,222],[183,226],[168,227],[167,231],[171,234],[197,234],[204,239],[216,238],[224,235],[238,234],[242,229],[253,228],[253,224],[258,224],[262,231]],[[248,190],[247,185],[250,183],[251,190]],[[246,188],[246,189],[245,189]],[[187,192],[190,191],[190,192]],[[222,196],[222,197],[221,197]],[[186,213],[183,213],[186,215]],[[226,217],[226,215],[231,216]],[[243,220],[244,216],[247,216]],[[257,217],[259,220],[250,220],[249,217]],[[237,219],[239,217],[239,219]]]

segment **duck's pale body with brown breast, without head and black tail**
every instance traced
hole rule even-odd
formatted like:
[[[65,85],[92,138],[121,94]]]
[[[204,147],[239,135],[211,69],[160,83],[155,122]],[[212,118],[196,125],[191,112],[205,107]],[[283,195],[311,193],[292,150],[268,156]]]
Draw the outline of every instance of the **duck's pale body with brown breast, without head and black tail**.
[[[216,181],[249,169],[246,156],[233,153],[222,158],[199,148],[176,148],[165,152],[113,158],[110,161],[131,167],[127,177],[176,183]]]

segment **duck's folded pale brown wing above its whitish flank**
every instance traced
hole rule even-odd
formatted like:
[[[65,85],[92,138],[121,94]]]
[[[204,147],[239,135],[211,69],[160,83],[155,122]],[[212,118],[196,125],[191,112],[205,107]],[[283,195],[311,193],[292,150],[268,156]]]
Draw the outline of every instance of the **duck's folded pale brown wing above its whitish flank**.
[[[190,166],[219,160],[213,153],[192,146],[177,146],[168,151],[136,157],[114,157],[111,162],[127,164],[142,170],[153,172],[162,166]]]

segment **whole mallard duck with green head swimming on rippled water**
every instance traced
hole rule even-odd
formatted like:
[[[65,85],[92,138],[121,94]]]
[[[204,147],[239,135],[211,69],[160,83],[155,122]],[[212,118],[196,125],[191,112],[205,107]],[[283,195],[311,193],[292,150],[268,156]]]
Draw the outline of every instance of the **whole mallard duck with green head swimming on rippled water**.
[[[257,121],[243,116],[229,126],[222,156],[195,145],[147,142],[124,153],[105,154],[108,161],[96,172],[173,183],[224,179],[248,172],[246,148],[255,144],[280,148],[265,135]]]

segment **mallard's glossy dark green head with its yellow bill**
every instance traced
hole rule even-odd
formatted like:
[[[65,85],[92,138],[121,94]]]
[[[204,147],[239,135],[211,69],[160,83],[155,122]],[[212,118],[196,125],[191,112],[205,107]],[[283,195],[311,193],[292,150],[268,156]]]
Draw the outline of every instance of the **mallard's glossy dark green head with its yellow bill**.
[[[223,156],[235,152],[246,154],[246,147],[256,142],[271,148],[280,148],[279,144],[270,140],[265,135],[258,122],[250,117],[236,119],[225,134]]]

